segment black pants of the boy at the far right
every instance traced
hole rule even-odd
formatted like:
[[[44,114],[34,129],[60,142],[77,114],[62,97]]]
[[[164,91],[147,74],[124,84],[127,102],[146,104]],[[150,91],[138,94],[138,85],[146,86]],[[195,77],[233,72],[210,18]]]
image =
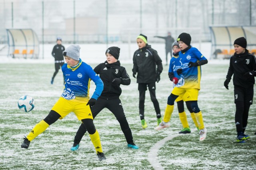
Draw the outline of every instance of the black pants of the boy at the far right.
[[[250,88],[234,86],[234,99],[236,104],[235,123],[237,132],[244,133],[246,129],[253,93],[253,86]]]

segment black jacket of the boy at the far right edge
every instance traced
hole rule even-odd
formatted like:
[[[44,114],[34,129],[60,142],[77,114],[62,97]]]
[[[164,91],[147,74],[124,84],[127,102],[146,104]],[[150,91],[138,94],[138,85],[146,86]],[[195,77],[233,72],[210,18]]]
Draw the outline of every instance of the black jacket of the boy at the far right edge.
[[[245,53],[236,54],[231,56],[230,65],[228,68],[228,74],[226,78],[230,81],[232,75],[233,76],[233,84],[234,86],[239,86],[242,88],[248,88],[254,85],[255,79],[245,78],[243,75],[248,72],[256,70],[256,59],[254,55],[248,53],[246,49]]]

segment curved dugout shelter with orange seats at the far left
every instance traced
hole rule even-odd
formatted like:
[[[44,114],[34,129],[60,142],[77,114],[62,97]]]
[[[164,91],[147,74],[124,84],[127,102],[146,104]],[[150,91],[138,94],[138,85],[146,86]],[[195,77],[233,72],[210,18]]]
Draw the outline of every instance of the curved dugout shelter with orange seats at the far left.
[[[39,41],[32,29],[6,29],[8,56],[34,58],[39,56]]]

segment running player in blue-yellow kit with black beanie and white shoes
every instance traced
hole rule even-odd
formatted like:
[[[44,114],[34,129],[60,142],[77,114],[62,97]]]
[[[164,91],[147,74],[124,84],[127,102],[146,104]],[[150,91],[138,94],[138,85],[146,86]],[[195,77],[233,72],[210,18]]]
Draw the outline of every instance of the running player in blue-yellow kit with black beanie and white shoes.
[[[174,108],[174,101],[179,96],[183,96],[187,93],[190,97],[190,107],[198,123],[199,141],[204,141],[204,139],[206,139],[206,128],[204,128],[202,111],[200,111],[198,107],[197,100],[200,90],[201,65],[207,64],[208,61],[198,49],[191,47],[191,37],[188,33],[181,33],[177,41],[181,49],[179,52],[181,68],[176,70],[177,74],[181,74],[179,80],[180,85],[175,86],[168,97],[164,114],[171,115]]]

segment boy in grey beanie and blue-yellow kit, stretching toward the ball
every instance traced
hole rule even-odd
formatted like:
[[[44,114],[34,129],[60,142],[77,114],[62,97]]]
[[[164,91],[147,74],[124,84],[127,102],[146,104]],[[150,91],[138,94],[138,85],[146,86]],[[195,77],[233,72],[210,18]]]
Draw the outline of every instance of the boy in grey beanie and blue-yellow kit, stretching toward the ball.
[[[103,82],[92,70],[92,67],[80,59],[80,46],[70,45],[63,53],[66,64],[62,66],[65,78],[65,88],[59,100],[52,107],[45,119],[40,121],[30,131],[21,145],[28,149],[30,142],[43,133],[52,123],[63,119],[70,112],[74,112],[78,120],[81,120],[90,135],[99,160],[106,159],[102,152],[100,135],[96,130],[90,106],[93,106],[102,93]],[[89,97],[90,80],[93,80],[96,89],[92,98]]]

